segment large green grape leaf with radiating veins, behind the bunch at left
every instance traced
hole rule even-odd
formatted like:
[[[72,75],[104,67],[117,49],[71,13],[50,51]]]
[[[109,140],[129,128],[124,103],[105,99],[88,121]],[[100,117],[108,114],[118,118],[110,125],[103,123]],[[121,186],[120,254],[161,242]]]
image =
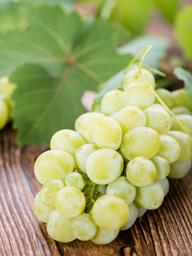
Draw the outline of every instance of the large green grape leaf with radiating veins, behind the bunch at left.
[[[86,29],[76,12],[39,7],[29,13],[27,31],[9,31],[0,45],[0,73],[13,74],[14,126],[18,143],[49,145],[60,129],[74,129],[86,110],[80,103],[85,90],[96,90],[130,61],[115,47],[128,32],[106,21]],[[24,64],[25,63],[25,64]]]

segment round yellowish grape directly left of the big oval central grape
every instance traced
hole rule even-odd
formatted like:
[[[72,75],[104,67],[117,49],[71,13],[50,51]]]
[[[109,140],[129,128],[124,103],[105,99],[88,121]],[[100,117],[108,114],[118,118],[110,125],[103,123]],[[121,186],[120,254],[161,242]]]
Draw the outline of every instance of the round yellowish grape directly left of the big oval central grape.
[[[94,143],[100,148],[113,148],[117,150],[121,145],[121,126],[112,117],[102,116],[97,118],[93,122],[91,135]]]

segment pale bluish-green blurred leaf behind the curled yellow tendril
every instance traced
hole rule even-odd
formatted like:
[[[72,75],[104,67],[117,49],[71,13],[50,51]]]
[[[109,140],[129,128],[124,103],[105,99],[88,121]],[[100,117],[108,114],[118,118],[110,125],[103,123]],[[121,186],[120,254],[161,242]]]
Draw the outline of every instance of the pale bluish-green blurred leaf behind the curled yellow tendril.
[[[152,45],[143,64],[156,69],[160,66],[160,60],[165,58],[170,48],[170,40],[159,36],[137,36],[130,42],[118,48],[119,54],[132,54],[136,56],[146,45]],[[142,56],[138,58],[141,60]]]

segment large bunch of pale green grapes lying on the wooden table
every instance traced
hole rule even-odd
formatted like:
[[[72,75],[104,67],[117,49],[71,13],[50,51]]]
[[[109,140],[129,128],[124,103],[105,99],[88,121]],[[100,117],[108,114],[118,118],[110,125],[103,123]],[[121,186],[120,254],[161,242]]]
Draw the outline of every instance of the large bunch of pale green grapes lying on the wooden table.
[[[156,90],[175,118],[156,100],[154,88],[151,72],[131,70],[123,90],[104,95],[100,112],[79,116],[75,130],[57,131],[51,149],[36,159],[35,177],[43,186],[33,209],[54,240],[110,243],[161,206],[168,177],[189,171],[190,95]]]

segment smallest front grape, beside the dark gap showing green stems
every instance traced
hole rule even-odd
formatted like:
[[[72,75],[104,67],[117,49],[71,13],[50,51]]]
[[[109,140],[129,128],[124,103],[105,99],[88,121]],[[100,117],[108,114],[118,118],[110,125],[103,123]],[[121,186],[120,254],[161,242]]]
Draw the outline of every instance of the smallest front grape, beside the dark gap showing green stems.
[[[82,190],[85,186],[84,179],[80,173],[69,173],[65,179],[66,186],[74,186],[75,188]]]

